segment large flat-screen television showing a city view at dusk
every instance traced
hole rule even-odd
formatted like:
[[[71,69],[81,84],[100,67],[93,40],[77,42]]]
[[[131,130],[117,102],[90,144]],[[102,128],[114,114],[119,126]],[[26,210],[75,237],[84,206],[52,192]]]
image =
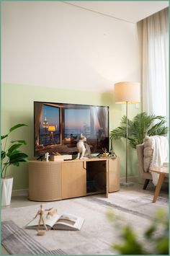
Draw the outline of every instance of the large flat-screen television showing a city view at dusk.
[[[77,154],[81,133],[91,153],[109,151],[109,107],[34,102],[34,155]]]

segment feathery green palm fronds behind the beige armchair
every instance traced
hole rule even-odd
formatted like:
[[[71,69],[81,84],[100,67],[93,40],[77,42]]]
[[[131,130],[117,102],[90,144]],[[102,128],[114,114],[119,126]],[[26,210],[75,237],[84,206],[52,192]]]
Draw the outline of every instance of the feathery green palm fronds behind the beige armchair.
[[[136,145],[143,143],[143,138],[146,135],[166,136],[168,128],[165,125],[166,118],[161,115],[147,115],[146,112],[141,112],[135,115],[133,120],[128,119],[128,140],[133,149]],[[110,138],[117,140],[126,138],[126,116],[122,117],[120,126],[110,132]]]

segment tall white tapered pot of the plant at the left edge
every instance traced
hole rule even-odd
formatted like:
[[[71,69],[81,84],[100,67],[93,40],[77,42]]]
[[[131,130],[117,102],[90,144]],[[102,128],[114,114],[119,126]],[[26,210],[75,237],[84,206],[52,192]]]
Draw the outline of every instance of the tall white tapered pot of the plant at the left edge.
[[[12,178],[1,179],[1,206],[9,206],[12,198]]]

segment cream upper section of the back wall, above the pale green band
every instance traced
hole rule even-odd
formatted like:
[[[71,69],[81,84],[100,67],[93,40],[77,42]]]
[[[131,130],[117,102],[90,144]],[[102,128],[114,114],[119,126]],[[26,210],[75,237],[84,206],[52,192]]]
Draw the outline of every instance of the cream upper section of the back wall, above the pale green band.
[[[1,81],[112,91],[140,81],[137,25],[58,1],[1,7]]]

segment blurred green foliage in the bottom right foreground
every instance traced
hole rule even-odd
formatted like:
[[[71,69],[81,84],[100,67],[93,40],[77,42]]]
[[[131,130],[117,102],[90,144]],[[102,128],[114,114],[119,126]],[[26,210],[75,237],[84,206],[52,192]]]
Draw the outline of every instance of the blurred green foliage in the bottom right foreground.
[[[107,217],[120,230],[121,242],[112,244],[112,250],[117,250],[120,255],[169,255],[169,216],[163,209],[153,216],[141,241],[133,227],[129,224],[123,226],[112,211],[108,211]]]

